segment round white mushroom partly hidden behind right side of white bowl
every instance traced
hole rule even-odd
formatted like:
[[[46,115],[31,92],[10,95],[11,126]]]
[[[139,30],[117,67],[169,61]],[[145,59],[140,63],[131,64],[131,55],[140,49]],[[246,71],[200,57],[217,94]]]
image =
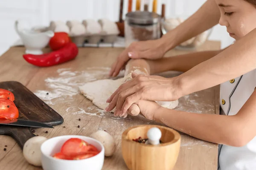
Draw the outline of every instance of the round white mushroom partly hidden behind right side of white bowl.
[[[108,132],[104,130],[98,130],[90,135],[91,138],[101,142],[105,148],[105,156],[112,156],[116,149],[116,144]]]

